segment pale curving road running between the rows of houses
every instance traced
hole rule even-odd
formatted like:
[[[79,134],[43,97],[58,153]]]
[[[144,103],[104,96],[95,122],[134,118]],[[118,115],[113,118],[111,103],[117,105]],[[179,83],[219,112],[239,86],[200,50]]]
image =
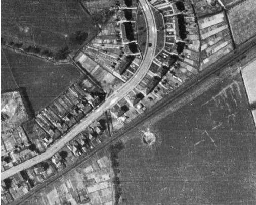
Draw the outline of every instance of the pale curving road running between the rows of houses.
[[[133,75],[133,77],[128,80],[124,85],[122,85],[119,89],[114,91],[105,101],[104,103],[94,110],[86,119],[83,119],[79,124],[77,124],[74,128],[72,128],[67,134],[65,134],[59,141],[57,141],[54,145],[49,147],[44,153],[38,155],[30,160],[27,160],[15,167],[12,167],[1,173],[1,180],[4,180],[12,175],[27,169],[39,162],[45,161],[51,158],[55,153],[57,153],[62,147],[65,146],[67,142],[72,140],[78,133],[80,133],[84,128],[88,127],[91,123],[97,120],[102,114],[104,114],[108,109],[113,107],[119,100],[121,100],[124,96],[126,96],[129,92],[131,92],[145,77],[146,73],[152,61],[154,59],[155,50],[156,50],[156,23],[152,11],[152,7],[150,6],[148,0],[139,0],[142,5],[143,12],[146,17],[147,22],[147,45],[149,43],[152,46],[147,46],[143,55],[142,62]]]

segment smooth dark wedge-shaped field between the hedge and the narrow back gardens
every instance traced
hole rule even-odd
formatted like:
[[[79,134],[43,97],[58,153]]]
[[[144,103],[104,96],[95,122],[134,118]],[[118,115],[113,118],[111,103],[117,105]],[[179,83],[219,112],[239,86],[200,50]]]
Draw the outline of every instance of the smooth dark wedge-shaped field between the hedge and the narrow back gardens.
[[[72,65],[54,65],[33,56],[1,49],[1,91],[25,88],[34,111],[48,105],[79,78]]]

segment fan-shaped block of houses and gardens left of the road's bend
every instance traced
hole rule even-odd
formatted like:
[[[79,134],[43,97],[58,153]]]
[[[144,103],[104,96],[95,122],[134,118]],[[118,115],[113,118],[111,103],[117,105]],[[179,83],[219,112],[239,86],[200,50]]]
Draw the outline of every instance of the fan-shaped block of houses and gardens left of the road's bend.
[[[75,62],[97,79],[107,93],[131,78],[141,62],[136,9],[137,4],[130,7],[120,4],[110,19],[99,25],[98,35],[75,57]]]

